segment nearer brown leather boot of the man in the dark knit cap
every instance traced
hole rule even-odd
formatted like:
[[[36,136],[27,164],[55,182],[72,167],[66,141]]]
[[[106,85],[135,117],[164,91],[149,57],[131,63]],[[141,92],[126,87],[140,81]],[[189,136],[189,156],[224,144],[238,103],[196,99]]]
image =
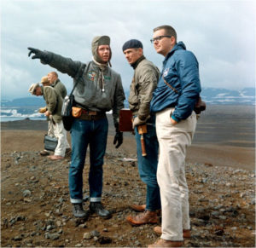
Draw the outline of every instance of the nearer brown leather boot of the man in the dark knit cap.
[[[132,226],[140,226],[143,224],[155,224],[158,222],[158,217],[155,211],[144,211],[137,216],[127,216],[126,220]]]

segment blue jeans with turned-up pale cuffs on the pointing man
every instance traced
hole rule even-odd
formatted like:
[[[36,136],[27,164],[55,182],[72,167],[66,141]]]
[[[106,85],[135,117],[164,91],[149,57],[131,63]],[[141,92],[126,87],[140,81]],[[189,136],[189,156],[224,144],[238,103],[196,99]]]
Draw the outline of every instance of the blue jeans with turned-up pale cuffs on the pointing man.
[[[87,147],[90,145],[90,201],[101,201],[102,165],[107,147],[108,119],[83,120],[75,118],[71,137],[72,160],[68,174],[70,200],[72,203],[83,202],[83,170]]]

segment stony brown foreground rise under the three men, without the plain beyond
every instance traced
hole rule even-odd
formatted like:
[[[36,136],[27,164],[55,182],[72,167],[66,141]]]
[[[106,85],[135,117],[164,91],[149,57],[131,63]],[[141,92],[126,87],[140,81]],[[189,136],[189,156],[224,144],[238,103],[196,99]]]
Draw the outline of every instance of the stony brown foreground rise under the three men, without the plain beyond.
[[[127,159],[127,155],[129,156]],[[4,247],[140,247],[158,236],[153,225],[131,227],[125,217],[143,204],[136,156],[106,154],[102,203],[113,217],[74,218],[67,174],[70,158],[52,162],[38,152],[2,153],[1,240]],[[88,159],[87,159],[88,161]],[[88,162],[84,196],[88,195]],[[186,247],[255,247],[255,173],[187,164],[192,238]],[[84,208],[88,208],[88,201]]]

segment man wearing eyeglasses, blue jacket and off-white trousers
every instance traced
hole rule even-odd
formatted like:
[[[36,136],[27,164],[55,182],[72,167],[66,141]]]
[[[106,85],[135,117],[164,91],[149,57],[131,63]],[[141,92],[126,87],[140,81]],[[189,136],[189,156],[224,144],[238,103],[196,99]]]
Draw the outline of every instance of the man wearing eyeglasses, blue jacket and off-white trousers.
[[[150,103],[156,114],[160,144],[157,181],[160,186],[162,226],[154,231],[159,241],[148,247],[179,247],[190,237],[189,189],[185,177],[186,148],[195,133],[195,102],[201,92],[198,62],[177,43],[172,26],[154,28],[154,49],[165,57],[157,88]]]

